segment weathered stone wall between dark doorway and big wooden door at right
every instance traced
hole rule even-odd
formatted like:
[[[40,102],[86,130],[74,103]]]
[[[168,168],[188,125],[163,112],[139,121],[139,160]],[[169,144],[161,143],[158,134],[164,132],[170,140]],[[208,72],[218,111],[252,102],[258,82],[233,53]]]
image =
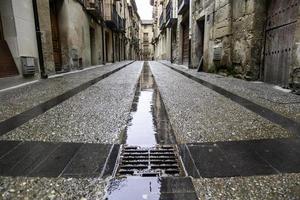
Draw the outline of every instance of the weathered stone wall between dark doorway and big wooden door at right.
[[[223,72],[257,80],[261,66],[266,20],[265,0],[202,0],[193,10],[192,66],[197,56],[197,20],[205,19],[204,71]],[[221,60],[214,60],[214,48],[221,47]]]

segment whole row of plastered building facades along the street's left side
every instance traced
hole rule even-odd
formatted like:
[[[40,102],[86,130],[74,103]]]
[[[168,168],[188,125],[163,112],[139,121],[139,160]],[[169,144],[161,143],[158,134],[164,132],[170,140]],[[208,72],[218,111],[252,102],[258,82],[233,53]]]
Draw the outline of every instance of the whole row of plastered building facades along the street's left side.
[[[140,54],[134,0],[3,0],[0,14],[0,77],[25,75],[26,64],[51,75]]]

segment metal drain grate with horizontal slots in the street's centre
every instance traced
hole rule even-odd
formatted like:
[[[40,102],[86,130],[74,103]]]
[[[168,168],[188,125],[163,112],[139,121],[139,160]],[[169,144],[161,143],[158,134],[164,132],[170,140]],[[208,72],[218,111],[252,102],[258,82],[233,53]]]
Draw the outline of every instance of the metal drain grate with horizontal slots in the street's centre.
[[[181,176],[177,151],[173,146],[151,148],[124,146],[122,148],[118,175]]]

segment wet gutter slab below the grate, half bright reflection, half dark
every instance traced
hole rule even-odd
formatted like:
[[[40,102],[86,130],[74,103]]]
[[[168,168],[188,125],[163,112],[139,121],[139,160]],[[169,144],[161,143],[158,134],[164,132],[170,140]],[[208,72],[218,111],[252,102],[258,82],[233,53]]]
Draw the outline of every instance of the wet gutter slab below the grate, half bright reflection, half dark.
[[[106,200],[195,200],[190,178],[127,177],[111,181]]]

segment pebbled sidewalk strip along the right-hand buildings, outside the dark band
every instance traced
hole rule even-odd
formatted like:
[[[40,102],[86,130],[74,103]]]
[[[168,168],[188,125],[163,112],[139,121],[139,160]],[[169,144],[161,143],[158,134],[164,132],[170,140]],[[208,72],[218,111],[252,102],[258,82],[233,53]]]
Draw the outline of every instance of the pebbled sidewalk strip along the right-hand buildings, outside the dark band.
[[[275,89],[274,85],[263,82],[245,81],[233,77],[197,72],[195,69],[185,69],[165,61],[162,63],[300,122],[300,95],[280,91]]]

